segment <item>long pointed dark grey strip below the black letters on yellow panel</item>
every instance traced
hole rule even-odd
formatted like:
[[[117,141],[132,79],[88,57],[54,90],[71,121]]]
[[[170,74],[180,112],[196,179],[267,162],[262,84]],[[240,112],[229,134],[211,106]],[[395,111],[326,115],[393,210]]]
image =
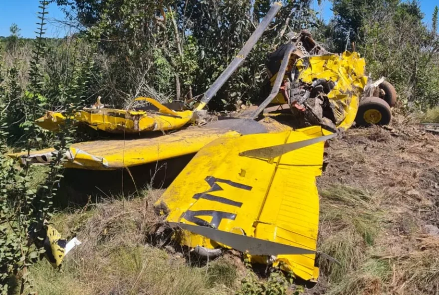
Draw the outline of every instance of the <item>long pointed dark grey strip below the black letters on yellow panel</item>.
[[[196,226],[185,223],[170,222],[195,234],[205,236],[235,250],[251,255],[287,255],[287,254],[315,254],[315,251],[299,247],[279,244],[271,241],[257,239],[249,236],[238,235],[221,231],[211,227]]]

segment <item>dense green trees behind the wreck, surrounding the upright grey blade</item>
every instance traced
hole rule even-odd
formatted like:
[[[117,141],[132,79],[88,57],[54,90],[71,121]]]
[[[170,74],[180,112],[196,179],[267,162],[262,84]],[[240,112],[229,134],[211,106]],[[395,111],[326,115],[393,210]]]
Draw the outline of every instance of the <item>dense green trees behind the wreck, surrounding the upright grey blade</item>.
[[[57,0],[73,8],[84,33],[110,60],[99,83],[104,102],[133,96],[191,99],[202,94],[231,61],[271,6],[243,0]],[[231,102],[255,98],[265,54],[291,30],[313,25],[310,1],[284,1],[268,31],[217,96]],[[97,90],[96,90],[97,91]],[[211,105],[214,107],[214,105]]]

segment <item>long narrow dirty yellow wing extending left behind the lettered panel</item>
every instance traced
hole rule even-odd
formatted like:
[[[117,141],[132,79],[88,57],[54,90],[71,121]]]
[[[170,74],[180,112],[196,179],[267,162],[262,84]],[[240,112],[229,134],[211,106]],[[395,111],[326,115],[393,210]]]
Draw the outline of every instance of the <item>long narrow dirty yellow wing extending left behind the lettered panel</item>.
[[[257,123],[252,120],[223,120],[204,127],[190,127],[156,137],[134,140],[100,140],[73,144],[66,153],[67,168],[111,170],[141,165],[191,154],[220,137],[238,137],[248,133],[291,130],[275,121]],[[48,164],[56,152],[47,148],[30,152],[31,164]],[[26,162],[27,152],[8,154]]]

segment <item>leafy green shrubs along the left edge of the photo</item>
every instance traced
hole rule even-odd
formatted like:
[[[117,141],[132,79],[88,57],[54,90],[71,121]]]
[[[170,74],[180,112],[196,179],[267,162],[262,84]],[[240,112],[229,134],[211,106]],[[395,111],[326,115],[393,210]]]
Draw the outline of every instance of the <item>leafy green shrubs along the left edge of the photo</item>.
[[[55,212],[53,198],[62,178],[66,149],[74,141],[75,129],[67,121],[56,136],[34,124],[45,110],[63,110],[67,117],[84,103],[93,69],[93,50],[81,39],[53,42],[44,38],[48,2],[40,0],[37,36],[31,47],[28,67],[17,52],[27,48],[20,43],[18,28],[0,46],[0,293],[34,294],[29,272],[43,249],[43,220]],[[0,44],[1,45],[1,44]],[[15,46],[16,45],[16,46]],[[90,53],[90,54],[89,54]],[[25,57],[21,57],[25,58]],[[10,66],[6,67],[8,63]],[[24,73],[24,70],[28,70]],[[23,81],[22,76],[25,76]],[[18,121],[15,121],[19,118]],[[13,144],[23,151],[53,146],[53,160],[46,175],[36,174],[29,163],[20,167],[6,156]],[[41,177],[43,176],[43,177]],[[42,178],[42,180],[41,180]]]

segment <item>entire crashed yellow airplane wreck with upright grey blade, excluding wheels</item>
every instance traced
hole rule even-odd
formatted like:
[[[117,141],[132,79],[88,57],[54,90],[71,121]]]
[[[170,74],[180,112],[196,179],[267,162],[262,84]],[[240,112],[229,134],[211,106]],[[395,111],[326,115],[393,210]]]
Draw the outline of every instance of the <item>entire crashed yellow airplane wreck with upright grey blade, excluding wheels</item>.
[[[323,52],[315,43],[311,46],[309,35],[301,34],[269,69],[270,94],[256,110],[238,119],[187,126],[242,63],[280,7],[274,3],[195,111],[172,110],[140,98],[153,109],[88,108],[73,117],[111,133],[181,130],[136,140],[74,144],[66,152],[65,167],[109,170],[196,153],[155,204],[164,226],[175,230],[173,239],[204,257],[236,249],[251,262],[315,281],[319,275],[314,263],[319,222],[315,178],[322,172],[324,142],[355,120],[367,83],[364,60],[356,53]],[[307,46],[310,49],[300,49]],[[294,129],[271,118],[255,121],[276,101],[288,103],[309,127]],[[56,131],[65,119],[48,113],[36,124]],[[27,154],[11,156],[41,164],[49,163],[55,152],[32,151],[30,159]]]

